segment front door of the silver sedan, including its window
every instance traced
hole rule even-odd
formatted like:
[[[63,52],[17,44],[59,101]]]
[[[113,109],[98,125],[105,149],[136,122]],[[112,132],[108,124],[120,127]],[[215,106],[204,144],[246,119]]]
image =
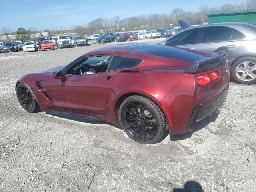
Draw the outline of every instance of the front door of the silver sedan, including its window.
[[[168,40],[166,40],[165,44],[190,50],[196,50],[200,34],[201,28],[188,29],[170,37]]]

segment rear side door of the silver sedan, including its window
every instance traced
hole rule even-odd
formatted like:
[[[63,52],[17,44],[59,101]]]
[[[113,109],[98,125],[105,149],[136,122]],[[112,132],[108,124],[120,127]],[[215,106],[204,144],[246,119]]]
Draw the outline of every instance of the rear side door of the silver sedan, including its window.
[[[233,28],[226,26],[204,27],[196,50],[212,53],[219,47],[227,47],[228,58],[232,58],[243,40],[244,35]]]

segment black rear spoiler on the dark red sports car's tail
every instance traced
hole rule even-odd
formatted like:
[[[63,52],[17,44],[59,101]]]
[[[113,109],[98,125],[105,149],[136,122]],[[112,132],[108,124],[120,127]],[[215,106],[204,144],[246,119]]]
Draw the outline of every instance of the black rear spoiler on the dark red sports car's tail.
[[[186,69],[185,73],[200,73],[203,71],[211,70],[218,67],[220,64],[226,62],[228,56],[228,48],[220,47],[216,51],[220,56],[214,57],[212,59],[192,64],[188,69]]]

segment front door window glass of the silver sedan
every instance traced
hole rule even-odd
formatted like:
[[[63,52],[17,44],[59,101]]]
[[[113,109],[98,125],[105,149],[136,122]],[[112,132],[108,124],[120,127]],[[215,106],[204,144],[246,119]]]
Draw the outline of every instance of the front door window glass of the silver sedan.
[[[200,32],[200,28],[186,30],[167,40],[166,45],[178,46],[178,45],[195,44],[197,41],[199,32]]]

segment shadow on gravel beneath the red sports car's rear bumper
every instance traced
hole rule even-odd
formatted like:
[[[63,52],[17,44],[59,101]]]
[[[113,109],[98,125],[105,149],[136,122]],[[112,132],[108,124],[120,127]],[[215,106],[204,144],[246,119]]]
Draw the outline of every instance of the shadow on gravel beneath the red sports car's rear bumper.
[[[214,114],[213,116],[208,116],[208,117],[198,121],[196,123],[196,126],[194,127],[194,129],[191,132],[181,134],[181,135],[170,136],[170,140],[171,141],[179,141],[179,140],[184,140],[184,139],[190,138],[194,132],[197,132],[197,131],[205,128],[211,122],[215,122],[217,118],[218,118],[218,114]]]

